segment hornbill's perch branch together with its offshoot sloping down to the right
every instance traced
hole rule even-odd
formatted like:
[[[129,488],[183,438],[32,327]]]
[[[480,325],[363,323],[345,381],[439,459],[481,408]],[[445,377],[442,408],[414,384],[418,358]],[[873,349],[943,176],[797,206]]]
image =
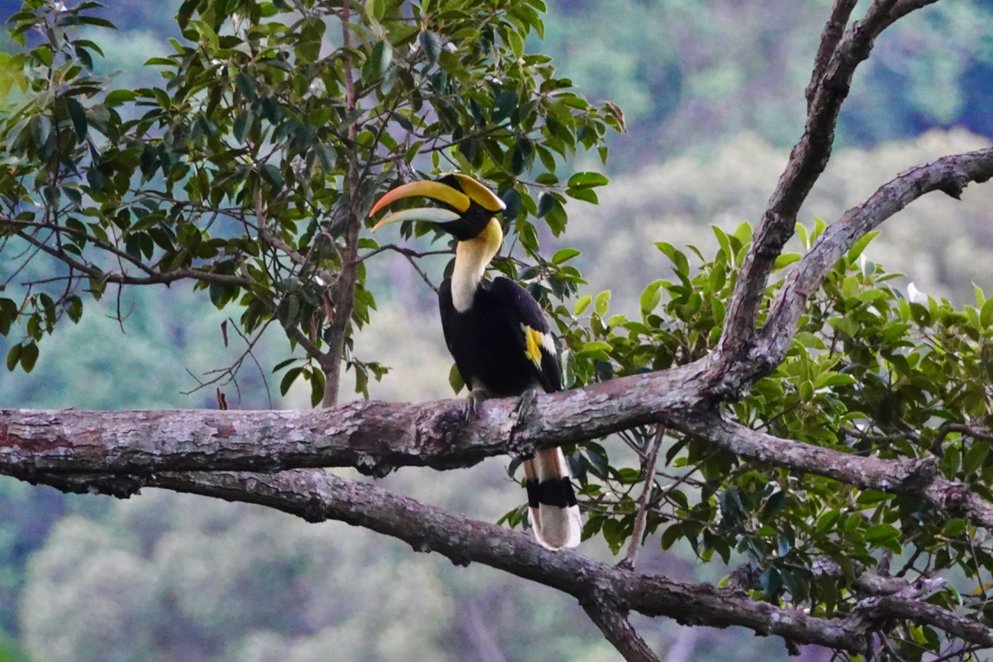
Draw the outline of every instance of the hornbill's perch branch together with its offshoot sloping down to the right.
[[[60,473],[85,472],[124,474],[138,483],[168,470],[355,466],[381,475],[402,465],[468,466],[504,455],[511,444],[531,450],[594,439],[651,416],[739,457],[863,489],[916,494],[949,516],[993,528],[993,504],[939,478],[934,458],[862,457],[767,435],[714,410],[673,405],[695,392],[666,390],[673,373],[687,367],[538,396],[540,414],[523,422],[512,399],[484,403],[468,424],[459,401],[354,402],[310,412],[0,410],[0,472],[48,484]]]

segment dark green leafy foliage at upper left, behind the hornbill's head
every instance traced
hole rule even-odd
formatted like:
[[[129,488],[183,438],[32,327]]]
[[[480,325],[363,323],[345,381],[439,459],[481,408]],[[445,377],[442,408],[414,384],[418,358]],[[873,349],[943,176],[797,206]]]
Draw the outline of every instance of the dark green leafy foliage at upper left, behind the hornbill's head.
[[[137,89],[110,89],[93,71],[99,46],[74,36],[113,27],[98,8],[29,0],[11,18],[25,51],[5,66],[23,66],[27,83],[0,128],[5,252],[63,266],[0,299],[0,332],[24,333],[9,369],[32,369],[45,335],[79,319],[82,295],[193,280],[217,308],[241,308],[246,335],[278,322],[304,342],[308,355],[280,366],[284,393],[302,376],[319,402],[320,359],[336,351],[365,391],[366,375],[386,371],[352,352],[376,306],[364,259],[381,247],[358,230],[378,193],[414,169],[476,174],[507,201],[511,240],[537,257],[531,218],[557,235],[567,197],[596,199],[606,181],[556,175],[577,148],[606,158],[604,134],[620,124],[525,53],[543,32],[541,0],[382,0],[361,13],[190,0],[174,54],[146,63],[163,85]],[[36,28],[44,39],[29,44]],[[350,312],[340,348],[337,311]]]

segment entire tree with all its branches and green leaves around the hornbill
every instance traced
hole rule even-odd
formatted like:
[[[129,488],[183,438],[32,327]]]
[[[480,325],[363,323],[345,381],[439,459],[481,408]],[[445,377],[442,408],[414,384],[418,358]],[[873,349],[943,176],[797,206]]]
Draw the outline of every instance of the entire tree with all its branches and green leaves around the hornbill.
[[[763,216],[714,226],[710,252],[659,237],[646,250],[672,275],[639,286],[629,315],[611,310],[610,291],[583,291],[579,251],[541,250],[567,229],[568,200],[596,202],[608,183],[568,159],[606,160],[606,136],[625,120],[528,51],[540,0],[188,0],[176,54],[147,63],[164,82],[137,89],[93,71],[99,38],[76,29],[112,27],[97,3],[27,0],[11,29],[23,49],[0,63],[0,332],[20,338],[8,368],[31,371],[84,296],[188,281],[238,311],[230,331],[245,346],[204,384],[233,379],[278,323],[304,350],[276,366],[283,392],[303,378],[325,408],[0,410],[0,471],[66,491],[157,486],[346,521],[575,596],[627,659],[657,659],[631,611],[852,658],[993,647],[993,299],[978,285],[962,307],[901,291],[865,252],[907,204],[986,182],[993,149],[896,175],[833,222],[797,218],[856,68],[931,3],[876,0],[851,22],[855,4],[830,8],[803,134]],[[553,321],[575,390],[527,413],[489,402],[468,422],[454,402],[336,406],[343,364],[359,391],[386,370],[354,351],[376,307],[375,257],[401,254],[433,287],[421,265],[438,271],[432,258],[451,252],[374,241],[372,199],[449,169],[506,203],[494,266]],[[800,249],[786,252],[794,233]],[[458,392],[454,369],[451,382]],[[500,526],[522,525],[523,506],[488,524],[315,470],[381,476],[551,446],[570,454],[584,539],[603,539],[617,566]],[[638,572],[643,545],[677,542],[726,577]]]

